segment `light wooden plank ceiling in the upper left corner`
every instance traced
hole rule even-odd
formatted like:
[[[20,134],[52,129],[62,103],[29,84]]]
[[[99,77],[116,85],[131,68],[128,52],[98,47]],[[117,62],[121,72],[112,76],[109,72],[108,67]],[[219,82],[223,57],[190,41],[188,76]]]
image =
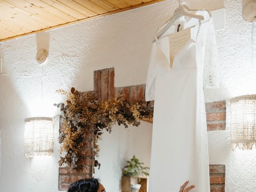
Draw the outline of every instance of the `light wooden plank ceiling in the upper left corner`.
[[[0,41],[162,0],[0,0]]]

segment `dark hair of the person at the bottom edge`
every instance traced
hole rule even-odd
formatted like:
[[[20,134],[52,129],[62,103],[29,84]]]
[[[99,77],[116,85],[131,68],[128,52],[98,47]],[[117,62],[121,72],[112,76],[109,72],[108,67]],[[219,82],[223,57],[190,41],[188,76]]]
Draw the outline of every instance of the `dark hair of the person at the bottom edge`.
[[[80,179],[70,185],[68,192],[97,192],[99,183],[99,179]]]

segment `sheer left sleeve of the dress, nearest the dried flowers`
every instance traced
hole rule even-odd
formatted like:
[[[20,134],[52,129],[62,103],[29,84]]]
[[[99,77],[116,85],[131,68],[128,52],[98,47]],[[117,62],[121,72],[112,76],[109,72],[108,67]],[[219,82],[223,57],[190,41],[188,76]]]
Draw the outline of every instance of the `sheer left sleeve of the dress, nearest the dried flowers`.
[[[154,100],[154,92],[155,92],[155,80],[156,80],[156,70],[155,70],[155,56],[156,56],[156,42],[152,45],[152,50],[150,54],[150,61],[148,65],[148,75],[147,75],[147,82],[146,82],[146,93],[145,98],[146,101]]]

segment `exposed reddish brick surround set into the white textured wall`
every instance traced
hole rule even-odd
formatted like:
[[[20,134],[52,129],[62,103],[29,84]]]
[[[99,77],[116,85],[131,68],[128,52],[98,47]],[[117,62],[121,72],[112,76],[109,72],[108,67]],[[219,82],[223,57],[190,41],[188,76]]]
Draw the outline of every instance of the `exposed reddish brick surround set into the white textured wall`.
[[[94,71],[94,90],[101,100],[114,98],[120,94],[124,100],[129,102],[144,102],[145,84],[125,87],[114,87],[114,68],[107,68]],[[148,103],[154,108],[154,101]],[[226,102],[206,103],[207,130],[226,129]],[[89,133],[84,137],[84,149],[82,151],[82,168],[80,170],[69,170],[65,167],[59,168],[58,188],[61,191],[68,189],[69,185],[82,178],[91,178],[94,173],[94,153],[93,153],[93,128],[90,127]],[[60,119],[60,130],[63,129]],[[104,166],[104,165],[102,165]],[[210,184],[211,192],[225,191],[225,165],[210,165]]]

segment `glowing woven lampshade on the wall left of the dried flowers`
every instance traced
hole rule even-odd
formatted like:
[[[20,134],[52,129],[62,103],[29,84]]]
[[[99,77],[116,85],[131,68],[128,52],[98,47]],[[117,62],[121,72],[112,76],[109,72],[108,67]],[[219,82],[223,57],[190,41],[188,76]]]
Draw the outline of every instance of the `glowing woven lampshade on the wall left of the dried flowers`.
[[[50,117],[25,119],[24,150],[26,157],[52,155],[54,121]]]

